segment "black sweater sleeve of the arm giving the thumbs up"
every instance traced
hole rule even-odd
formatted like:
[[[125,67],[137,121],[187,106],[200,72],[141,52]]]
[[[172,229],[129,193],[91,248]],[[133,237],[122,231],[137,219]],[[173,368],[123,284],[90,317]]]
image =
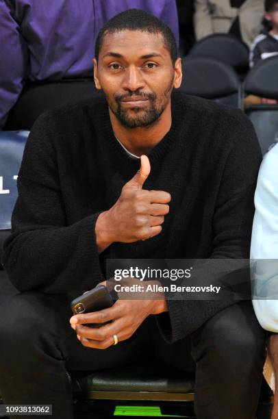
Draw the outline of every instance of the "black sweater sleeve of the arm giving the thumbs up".
[[[68,225],[55,136],[47,116],[40,116],[18,174],[18,199],[3,264],[21,292],[82,292],[103,280],[94,232],[99,213]]]

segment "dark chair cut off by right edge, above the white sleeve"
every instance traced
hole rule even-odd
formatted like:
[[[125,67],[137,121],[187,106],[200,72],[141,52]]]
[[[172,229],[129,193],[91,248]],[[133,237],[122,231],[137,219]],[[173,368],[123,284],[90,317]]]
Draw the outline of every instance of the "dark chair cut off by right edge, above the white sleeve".
[[[261,60],[251,69],[244,81],[244,94],[278,100],[278,56]],[[278,141],[278,105],[251,105],[245,112],[265,154]]]

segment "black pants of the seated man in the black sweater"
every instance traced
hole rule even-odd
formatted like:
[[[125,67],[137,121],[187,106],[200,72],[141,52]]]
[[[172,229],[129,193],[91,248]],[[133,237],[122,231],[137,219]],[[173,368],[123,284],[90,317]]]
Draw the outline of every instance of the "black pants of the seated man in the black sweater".
[[[4,403],[52,404],[53,418],[72,419],[67,370],[100,370],[156,357],[181,374],[196,367],[197,418],[255,419],[266,342],[250,302],[228,307],[172,345],[161,338],[151,316],[129,340],[104,351],[82,346],[70,317],[65,296],[28,292],[1,305]]]

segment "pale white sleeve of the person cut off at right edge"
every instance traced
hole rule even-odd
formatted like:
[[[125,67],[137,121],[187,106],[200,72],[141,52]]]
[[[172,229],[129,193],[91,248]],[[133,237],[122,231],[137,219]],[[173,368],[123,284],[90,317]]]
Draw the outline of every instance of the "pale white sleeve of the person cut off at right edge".
[[[257,319],[278,332],[278,144],[265,155],[257,179],[251,265]]]

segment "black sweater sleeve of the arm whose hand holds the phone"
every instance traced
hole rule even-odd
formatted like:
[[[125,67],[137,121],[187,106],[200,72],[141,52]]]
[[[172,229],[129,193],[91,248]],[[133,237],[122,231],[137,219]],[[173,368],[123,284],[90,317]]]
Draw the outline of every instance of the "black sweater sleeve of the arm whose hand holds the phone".
[[[238,111],[238,118],[230,120],[230,123],[231,126],[227,132],[232,130],[232,134],[223,132],[223,147],[229,147],[229,143],[233,145],[223,161],[222,173],[219,173],[221,180],[212,218],[213,241],[210,255],[210,259],[222,259],[222,262],[219,260],[219,264],[223,263],[225,266],[229,266],[229,259],[249,259],[255,210],[254,192],[262,159],[255,130],[248,118]],[[223,121],[223,126],[227,128],[225,121]],[[227,135],[232,137],[231,142],[224,140]],[[220,167],[219,162],[217,170],[220,170]],[[231,260],[230,264],[231,271],[234,266],[238,266],[236,261]],[[218,264],[216,267],[218,268]],[[205,264],[194,269],[194,278],[205,283],[219,285],[215,281],[222,283],[222,278],[214,277],[216,270],[212,269],[211,261],[207,261],[207,269]],[[249,269],[243,275],[249,285]],[[229,281],[233,278],[231,276]],[[223,281],[225,283],[225,278]],[[229,282],[228,285],[233,285],[233,283]],[[168,300],[168,315],[157,316],[157,321],[162,335],[168,342],[184,338],[221,309],[236,303],[232,296],[225,299],[217,298],[214,301],[210,300],[210,297],[202,300],[184,300],[181,296],[173,298],[172,293],[166,296],[166,299]]]

